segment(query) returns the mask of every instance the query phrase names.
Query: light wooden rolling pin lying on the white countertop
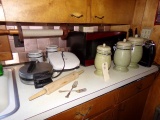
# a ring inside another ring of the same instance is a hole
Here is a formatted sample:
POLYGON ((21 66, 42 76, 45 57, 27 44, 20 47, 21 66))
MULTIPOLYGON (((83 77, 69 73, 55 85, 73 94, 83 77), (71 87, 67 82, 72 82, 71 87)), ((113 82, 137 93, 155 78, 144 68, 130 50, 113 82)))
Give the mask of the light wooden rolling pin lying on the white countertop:
POLYGON ((79 75, 82 74, 83 72, 84 72, 83 70, 78 71, 78 72, 74 71, 74 72, 56 80, 55 82, 52 82, 52 83, 44 86, 43 90, 41 90, 40 92, 31 96, 29 98, 29 100, 31 101, 31 100, 33 100, 37 97, 40 97, 44 94, 47 94, 47 95, 51 94, 52 92, 56 91, 57 89, 61 88, 62 86, 64 86, 64 85, 70 83, 71 81, 77 79, 79 77, 79 75))

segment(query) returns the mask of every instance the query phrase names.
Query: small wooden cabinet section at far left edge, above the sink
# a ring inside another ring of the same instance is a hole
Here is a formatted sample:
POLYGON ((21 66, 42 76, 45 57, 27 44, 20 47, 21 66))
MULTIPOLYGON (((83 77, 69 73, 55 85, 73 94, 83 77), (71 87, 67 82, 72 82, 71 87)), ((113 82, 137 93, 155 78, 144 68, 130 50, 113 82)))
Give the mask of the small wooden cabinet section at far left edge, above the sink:
MULTIPOLYGON (((6 29, 5 25, 0 25, 0 29, 6 29)), ((11 60, 12 52, 7 35, 0 36, 0 61, 11 60)))

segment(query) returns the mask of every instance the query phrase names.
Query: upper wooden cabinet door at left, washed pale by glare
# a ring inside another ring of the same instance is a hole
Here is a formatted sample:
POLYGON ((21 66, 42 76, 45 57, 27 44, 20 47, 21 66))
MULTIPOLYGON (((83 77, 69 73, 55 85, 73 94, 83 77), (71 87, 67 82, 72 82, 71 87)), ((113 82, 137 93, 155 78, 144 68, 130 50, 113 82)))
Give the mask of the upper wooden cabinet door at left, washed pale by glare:
POLYGON ((6 21, 85 23, 87 0, 1 0, 6 21))

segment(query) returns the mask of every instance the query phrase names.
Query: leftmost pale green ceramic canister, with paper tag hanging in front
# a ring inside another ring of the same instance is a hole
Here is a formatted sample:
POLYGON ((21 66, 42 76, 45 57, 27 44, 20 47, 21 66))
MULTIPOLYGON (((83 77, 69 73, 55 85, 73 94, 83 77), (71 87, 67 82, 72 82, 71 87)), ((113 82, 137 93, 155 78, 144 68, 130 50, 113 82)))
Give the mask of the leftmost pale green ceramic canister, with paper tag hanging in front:
POLYGON ((97 53, 94 61, 95 65, 95 74, 99 76, 103 76, 102 72, 102 64, 107 62, 108 69, 111 66, 111 48, 106 44, 97 46, 97 53))

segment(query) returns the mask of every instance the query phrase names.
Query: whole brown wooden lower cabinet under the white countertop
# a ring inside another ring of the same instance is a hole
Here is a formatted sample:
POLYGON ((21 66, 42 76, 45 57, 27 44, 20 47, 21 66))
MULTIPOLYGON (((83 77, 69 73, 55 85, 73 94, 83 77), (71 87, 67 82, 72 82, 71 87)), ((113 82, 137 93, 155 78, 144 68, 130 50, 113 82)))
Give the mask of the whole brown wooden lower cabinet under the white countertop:
POLYGON ((141 120, 154 76, 148 75, 47 120, 141 120))

